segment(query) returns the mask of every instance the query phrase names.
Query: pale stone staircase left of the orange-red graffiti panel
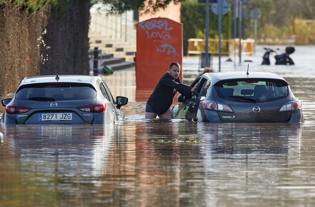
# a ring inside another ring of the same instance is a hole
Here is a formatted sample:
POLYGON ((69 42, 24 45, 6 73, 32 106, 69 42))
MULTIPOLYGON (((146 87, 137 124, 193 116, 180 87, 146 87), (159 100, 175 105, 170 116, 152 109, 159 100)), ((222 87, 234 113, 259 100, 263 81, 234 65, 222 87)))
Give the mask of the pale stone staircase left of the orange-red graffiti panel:
MULTIPOLYGON (((129 42, 122 42, 119 39, 112 39, 110 36, 101 35, 100 32, 89 32, 90 52, 98 47, 101 50, 99 54, 99 67, 107 65, 113 70, 135 67, 134 57, 136 47, 129 42)), ((93 65, 91 66, 93 67, 93 65)))

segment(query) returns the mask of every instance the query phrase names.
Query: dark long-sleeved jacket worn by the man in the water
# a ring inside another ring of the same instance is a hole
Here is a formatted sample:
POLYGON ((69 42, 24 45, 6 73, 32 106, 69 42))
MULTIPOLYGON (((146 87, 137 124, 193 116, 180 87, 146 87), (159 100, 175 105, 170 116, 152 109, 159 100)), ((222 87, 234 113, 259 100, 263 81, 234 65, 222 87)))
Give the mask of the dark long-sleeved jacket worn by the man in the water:
POLYGON ((157 115, 160 116, 172 105, 174 95, 177 91, 184 96, 189 96, 191 95, 191 89, 192 87, 181 84, 179 77, 174 80, 169 73, 166 73, 157 82, 146 103, 155 109, 157 115))

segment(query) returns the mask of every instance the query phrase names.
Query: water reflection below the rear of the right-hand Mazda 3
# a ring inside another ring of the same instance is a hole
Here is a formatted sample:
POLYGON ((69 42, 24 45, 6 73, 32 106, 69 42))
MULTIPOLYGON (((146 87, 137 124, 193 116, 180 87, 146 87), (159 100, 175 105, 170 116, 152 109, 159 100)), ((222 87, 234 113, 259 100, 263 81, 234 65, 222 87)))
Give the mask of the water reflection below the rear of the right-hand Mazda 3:
MULTIPOLYGON (((298 150, 301 123, 261 124, 221 123, 203 125, 204 147, 207 155, 238 154, 239 158, 251 154, 252 158, 283 159, 289 150, 298 150), (244 129, 246 128, 246 129, 244 129), (277 156, 272 156, 273 154, 277 156)), ((292 153, 292 152, 291 152, 292 153)), ((296 152, 295 152, 296 153, 296 152)), ((218 157, 219 158, 219 157, 218 157)))

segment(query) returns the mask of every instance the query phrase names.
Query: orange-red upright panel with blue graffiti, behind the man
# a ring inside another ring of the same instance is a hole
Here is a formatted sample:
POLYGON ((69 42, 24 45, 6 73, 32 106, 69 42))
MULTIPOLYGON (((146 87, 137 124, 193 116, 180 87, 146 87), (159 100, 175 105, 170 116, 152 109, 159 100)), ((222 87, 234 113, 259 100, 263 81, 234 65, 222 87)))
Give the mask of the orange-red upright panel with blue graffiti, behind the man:
POLYGON ((182 65, 182 28, 181 23, 168 18, 152 18, 137 24, 137 88, 154 88, 170 63, 182 65))

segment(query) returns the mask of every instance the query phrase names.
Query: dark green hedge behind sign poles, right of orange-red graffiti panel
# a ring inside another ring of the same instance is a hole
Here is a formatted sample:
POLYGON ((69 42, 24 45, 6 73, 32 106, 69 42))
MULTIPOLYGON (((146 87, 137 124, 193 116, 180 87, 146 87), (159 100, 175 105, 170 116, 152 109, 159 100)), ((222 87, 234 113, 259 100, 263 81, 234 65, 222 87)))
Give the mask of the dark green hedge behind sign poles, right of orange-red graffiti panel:
MULTIPOLYGON (((231 37, 231 5, 227 14, 221 18, 221 38, 231 37)), ((197 0, 186 0, 181 3, 181 23, 183 24, 183 52, 187 54, 188 39, 200 38, 205 40, 206 33, 206 4, 197 0)), ((219 17, 211 11, 209 4, 209 38, 218 39, 219 17)))

